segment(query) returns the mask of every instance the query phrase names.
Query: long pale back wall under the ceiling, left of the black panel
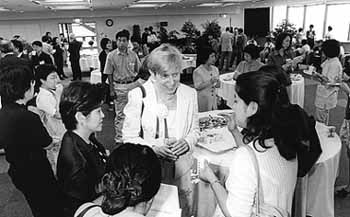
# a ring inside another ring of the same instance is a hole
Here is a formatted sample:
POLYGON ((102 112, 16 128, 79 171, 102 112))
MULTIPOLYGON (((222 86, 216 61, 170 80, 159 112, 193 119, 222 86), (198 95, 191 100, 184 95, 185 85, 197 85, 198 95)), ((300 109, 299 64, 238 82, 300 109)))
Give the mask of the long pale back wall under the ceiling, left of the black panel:
POLYGON ((12 38, 13 35, 23 35, 31 42, 40 40, 45 32, 58 35, 59 23, 71 23, 73 18, 81 18, 84 22, 96 22, 98 37, 107 34, 109 38, 115 37, 115 33, 121 29, 132 29, 132 25, 139 24, 142 31, 146 26, 157 29, 157 23, 167 21, 167 30, 180 31, 183 23, 191 20, 202 31, 201 24, 207 20, 217 19, 224 29, 226 26, 243 27, 243 9, 240 7, 226 8, 186 8, 186 9, 158 9, 158 10, 133 10, 133 11, 68 11, 56 13, 23 13, 4 14, 0 17, 0 36, 12 38), (220 16, 226 14, 226 18, 220 16), (230 19, 231 18, 231 19, 230 19), (106 19, 112 19, 114 25, 108 27, 106 19), (23 31, 21 31, 23 30, 23 31))

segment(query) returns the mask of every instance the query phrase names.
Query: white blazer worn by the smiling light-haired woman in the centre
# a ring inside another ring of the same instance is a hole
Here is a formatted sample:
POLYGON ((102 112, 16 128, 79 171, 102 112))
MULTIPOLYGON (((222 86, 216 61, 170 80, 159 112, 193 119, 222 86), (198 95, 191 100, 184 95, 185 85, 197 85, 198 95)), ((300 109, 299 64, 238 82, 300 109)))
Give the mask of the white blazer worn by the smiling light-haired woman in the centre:
MULTIPOLYGON (((151 80, 143 84, 146 92, 142 98, 140 88, 131 90, 128 94, 128 103, 124 108, 124 124, 122 137, 124 142, 142 144, 147 146, 159 146, 163 144, 163 139, 155 139, 157 126, 157 113, 155 109, 158 105, 156 92, 151 80), (142 100, 144 110, 141 119, 142 100), (139 136, 140 129, 143 129, 143 138, 139 136)), ((175 163, 175 178, 181 176, 192 166, 193 146, 199 138, 198 103, 195 89, 180 84, 176 91, 176 139, 184 138, 190 146, 190 151, 181 156, 175 163)))

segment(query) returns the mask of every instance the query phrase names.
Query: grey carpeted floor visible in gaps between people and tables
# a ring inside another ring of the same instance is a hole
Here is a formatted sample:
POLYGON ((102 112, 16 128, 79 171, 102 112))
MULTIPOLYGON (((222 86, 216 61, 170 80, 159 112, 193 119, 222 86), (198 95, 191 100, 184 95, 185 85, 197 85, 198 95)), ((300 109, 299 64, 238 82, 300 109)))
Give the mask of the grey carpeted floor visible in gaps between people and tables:
MULTIPOLYGON (((316 83, 307 80, 305 81, 305 110, 310 114, 314 113, 314 99, 315 99, 316 83)), ((344 107, 346 99, 343 94, 339 95, 338 106, 331 111, 330 124, 336 126, 337 132, 339 132, 340 125, 344 118, 344 107)), ((102 144, 106 145, 106 148, 114 149, 113 138, 113 112, 107 111, 104 108, 105 120, 101 133, 98 134, 99 140, 102 144)), ((340 159, 339 176, 336 182, 337 186, 347 183, 348 178, 348 160, 345 157, 345 150, 342 149, 342 155, 340 159)), ((22 194, 17 191, 11 183, 10 178, 6 174, 7 163, 5 157, 0 156, 0 217, 31 217, 30 209, 25 202, 22 194)), ((35 168, 33 168, 35 169, 35 168)), ((335 216, 336 217, 348 217, 350 216, 350 195, 345 199, 336 198, 335 200, 335 216)))

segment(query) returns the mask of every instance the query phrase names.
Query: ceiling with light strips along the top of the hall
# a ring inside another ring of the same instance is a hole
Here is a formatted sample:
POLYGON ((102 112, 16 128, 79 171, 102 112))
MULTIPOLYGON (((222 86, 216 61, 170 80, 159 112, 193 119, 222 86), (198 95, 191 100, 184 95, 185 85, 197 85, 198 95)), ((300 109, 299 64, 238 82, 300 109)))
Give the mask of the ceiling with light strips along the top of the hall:
MULTIPOLYGON (((203 4, 205 4, 204 7, 224 7, 230 5, 242 5, 247 2, 251 3, 270 0, 0 0, 0 13, 44 12, 56 10, 133 10, 133 8, 129 8, 129 6, 136 4, 137 1, 160 1, 162 3, 155 7, 162 8, 190 8, 203 4), (54 1, 54 3, 50 3, 50 1, 54 1), (173 3, 166 3, 169 1, 173 1, 173 3), (219 3, 221 5, 206 5, 207 3, 219 3), (79 6, 77 7, 76 4, 79 4, 79 6)), ((139 4, 141 4, 141 2, 139 4)))

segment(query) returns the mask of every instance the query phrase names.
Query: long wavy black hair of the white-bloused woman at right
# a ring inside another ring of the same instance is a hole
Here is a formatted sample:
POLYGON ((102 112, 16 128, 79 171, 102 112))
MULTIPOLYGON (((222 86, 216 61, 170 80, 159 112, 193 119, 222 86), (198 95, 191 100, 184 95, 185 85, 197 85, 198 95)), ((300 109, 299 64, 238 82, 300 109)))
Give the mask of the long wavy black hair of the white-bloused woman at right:
POLYGON ((245 104, 258 104, 257 112, 247 119, 243 142, 252 141, 254 148, 262 151, 257 144, 266 150, 271 147, 265 140, 273 138, 280 155, 286 160, 294 159, 301 141, 291 133, 297 131, 298 124, 290 118, 294 107, 286 98, 286 88, 274 76, 259 70, 239 75, 235 89, 245 104))

